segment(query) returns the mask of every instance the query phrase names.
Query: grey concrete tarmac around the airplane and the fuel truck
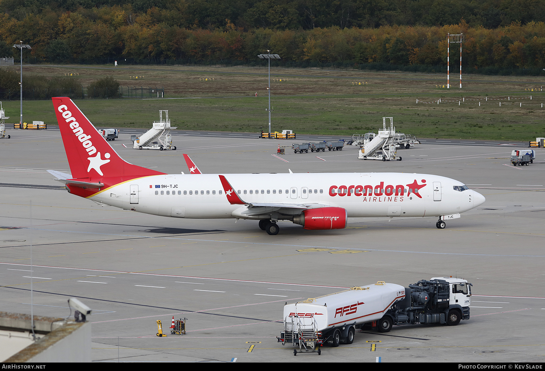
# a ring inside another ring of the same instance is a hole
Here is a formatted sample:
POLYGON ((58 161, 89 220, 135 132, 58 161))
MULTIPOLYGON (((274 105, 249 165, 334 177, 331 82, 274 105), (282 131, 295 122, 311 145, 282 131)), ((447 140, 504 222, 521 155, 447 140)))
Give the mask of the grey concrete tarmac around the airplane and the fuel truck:
POLYGON ((530 166, 512 166, 511 150, 523 143, 422 141, 398 150, 401 162, 379 162, 358 160, 352 146, 294 154, 291 141, 255 134, 177 132, 176 151, 132 149, 129 130, 109 142, 128 162, 172 174, 189 172, 187 153, 208 174, 417 172, 455 178, 487 199, 444 230, 435 218, 354 218, 334 231, 280 221, 269 236, 255 221, 157 217, 70 195, 46 172, 69 171, 60 133, 7 130, 1 310, 30 313, 31 280, 34 314, 69 316, 66 301, 79 298, 93 308, 96 362, 545 360, 543 149, 530 166), (281 159, 272 156, 278 145, 288 145, 281 159), (277 342, 285 302, 436 276, 473 283, 469 320, 358 331, 353 344, 323 347, 320 356, 294 357, 277 342), (186 335, 170 334, 173 316, 187 318, 186 335), (158 319, 167 337, 155 336, 158 319))

